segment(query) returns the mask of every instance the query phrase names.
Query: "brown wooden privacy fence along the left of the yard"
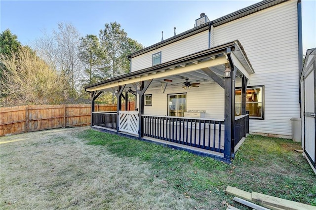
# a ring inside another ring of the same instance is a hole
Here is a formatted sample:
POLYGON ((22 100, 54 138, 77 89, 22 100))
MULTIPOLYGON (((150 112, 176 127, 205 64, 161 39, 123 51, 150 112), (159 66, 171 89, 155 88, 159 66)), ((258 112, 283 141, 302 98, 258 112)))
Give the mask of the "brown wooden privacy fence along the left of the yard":
MULTIPOLYGON (((95 111, 116 111, 117 105, 96 104, 95 111)), ((0 136, 53 128, 88 126, 91 105, 24 105, 0 108, 0 136)))

